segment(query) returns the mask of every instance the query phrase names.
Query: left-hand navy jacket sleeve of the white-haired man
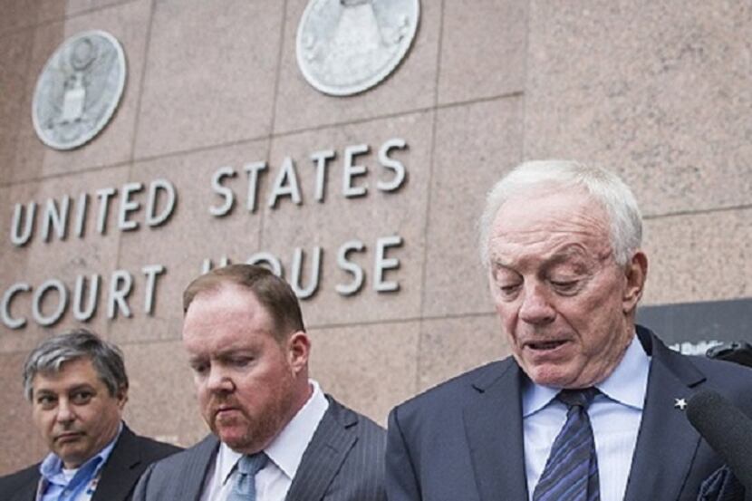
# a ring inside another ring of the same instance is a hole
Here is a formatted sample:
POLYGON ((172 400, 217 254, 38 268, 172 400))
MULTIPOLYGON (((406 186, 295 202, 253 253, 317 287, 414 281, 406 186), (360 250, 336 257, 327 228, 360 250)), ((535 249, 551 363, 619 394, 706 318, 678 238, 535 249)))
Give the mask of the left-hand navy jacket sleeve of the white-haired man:
POLYGON ((396 407, 389 414, 386 451, 386 489, 389 501, 419 501, 418 477, 410 451, 405 442, 400 420, 400 408, 396 407))

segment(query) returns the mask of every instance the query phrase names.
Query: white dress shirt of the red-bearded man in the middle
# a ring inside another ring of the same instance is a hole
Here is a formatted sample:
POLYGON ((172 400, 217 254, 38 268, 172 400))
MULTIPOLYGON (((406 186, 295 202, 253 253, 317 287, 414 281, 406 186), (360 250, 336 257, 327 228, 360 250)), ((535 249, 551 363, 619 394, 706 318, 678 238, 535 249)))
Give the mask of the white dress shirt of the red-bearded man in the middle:
MULTIPOLYGON (((316 381, 310 380, 313 393, 302 409, 264 449, 269 460, 255 475, 256 501, 283 501, 293 483, 305 448, 321 422, 329 400, 316 381)), ((219 445, 217 458, 201 495, 201 501, 225 501, 237 477, 236 464, 243 456, 225 444, 219 445)))

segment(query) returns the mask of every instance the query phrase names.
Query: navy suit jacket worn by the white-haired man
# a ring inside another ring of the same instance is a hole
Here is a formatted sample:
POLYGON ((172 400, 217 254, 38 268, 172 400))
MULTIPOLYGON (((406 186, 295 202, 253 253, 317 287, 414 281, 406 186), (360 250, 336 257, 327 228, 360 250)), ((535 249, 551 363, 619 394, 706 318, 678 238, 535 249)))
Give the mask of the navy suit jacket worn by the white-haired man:
MULTIPOLYGON (((721 459, 675 399, 717 390, 752 416, 752 370, 670 351, 637 327, 651 357, 626 501, 695 501, 721 459)), ((514 359, 490 363, 392 409, 387 438, 390 501, 527 500, 521 382, 514 359)))

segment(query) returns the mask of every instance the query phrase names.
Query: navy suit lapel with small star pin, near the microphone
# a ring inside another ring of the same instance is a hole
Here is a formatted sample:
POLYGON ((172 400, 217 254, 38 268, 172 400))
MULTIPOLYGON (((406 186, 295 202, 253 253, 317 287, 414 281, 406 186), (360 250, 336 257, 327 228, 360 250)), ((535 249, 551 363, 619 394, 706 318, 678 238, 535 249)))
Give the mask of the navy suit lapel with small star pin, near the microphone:
POLYGON ((705 378, 651 332, 638 327, 638 333, 652 361, 624 500, 678 499, 699 446, 699 434, 675 403, 676 399, 689 400, 692 387, 705 378))

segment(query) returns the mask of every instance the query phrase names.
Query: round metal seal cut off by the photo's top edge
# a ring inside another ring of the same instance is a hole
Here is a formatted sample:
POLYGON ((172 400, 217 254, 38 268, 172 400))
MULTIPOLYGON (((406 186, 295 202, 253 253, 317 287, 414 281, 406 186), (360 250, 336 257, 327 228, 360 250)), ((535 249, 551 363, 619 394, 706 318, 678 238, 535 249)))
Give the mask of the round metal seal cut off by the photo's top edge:
POLYGON ((419 0, 309 0, 297 60, 313 87, 345 96, 384 80, 410 49, 419 0))

